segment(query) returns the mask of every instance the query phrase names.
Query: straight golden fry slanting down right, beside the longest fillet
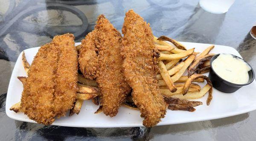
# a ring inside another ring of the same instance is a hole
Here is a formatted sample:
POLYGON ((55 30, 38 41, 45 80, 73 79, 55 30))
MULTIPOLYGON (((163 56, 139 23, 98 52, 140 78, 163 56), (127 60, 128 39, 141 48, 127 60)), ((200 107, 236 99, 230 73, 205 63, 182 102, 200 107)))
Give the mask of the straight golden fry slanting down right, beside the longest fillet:
POLYGON ((160 72, 160 74, 161 74, 163 80, 166 82, 167 87, 169 88, 169 90, 170 90, 172 93, 174 93, 174 92, 177 90, 177 88, 176 88, 175 85, 173 84, 172 79, 171 79, 171 77, 169 76, 169 73, 168 73, 168 71, 166 70, 166 67, 165 67, 163 61, 159 61, 157 65, 158 65, 158 67, 159 67, 159 72, 160 72))

